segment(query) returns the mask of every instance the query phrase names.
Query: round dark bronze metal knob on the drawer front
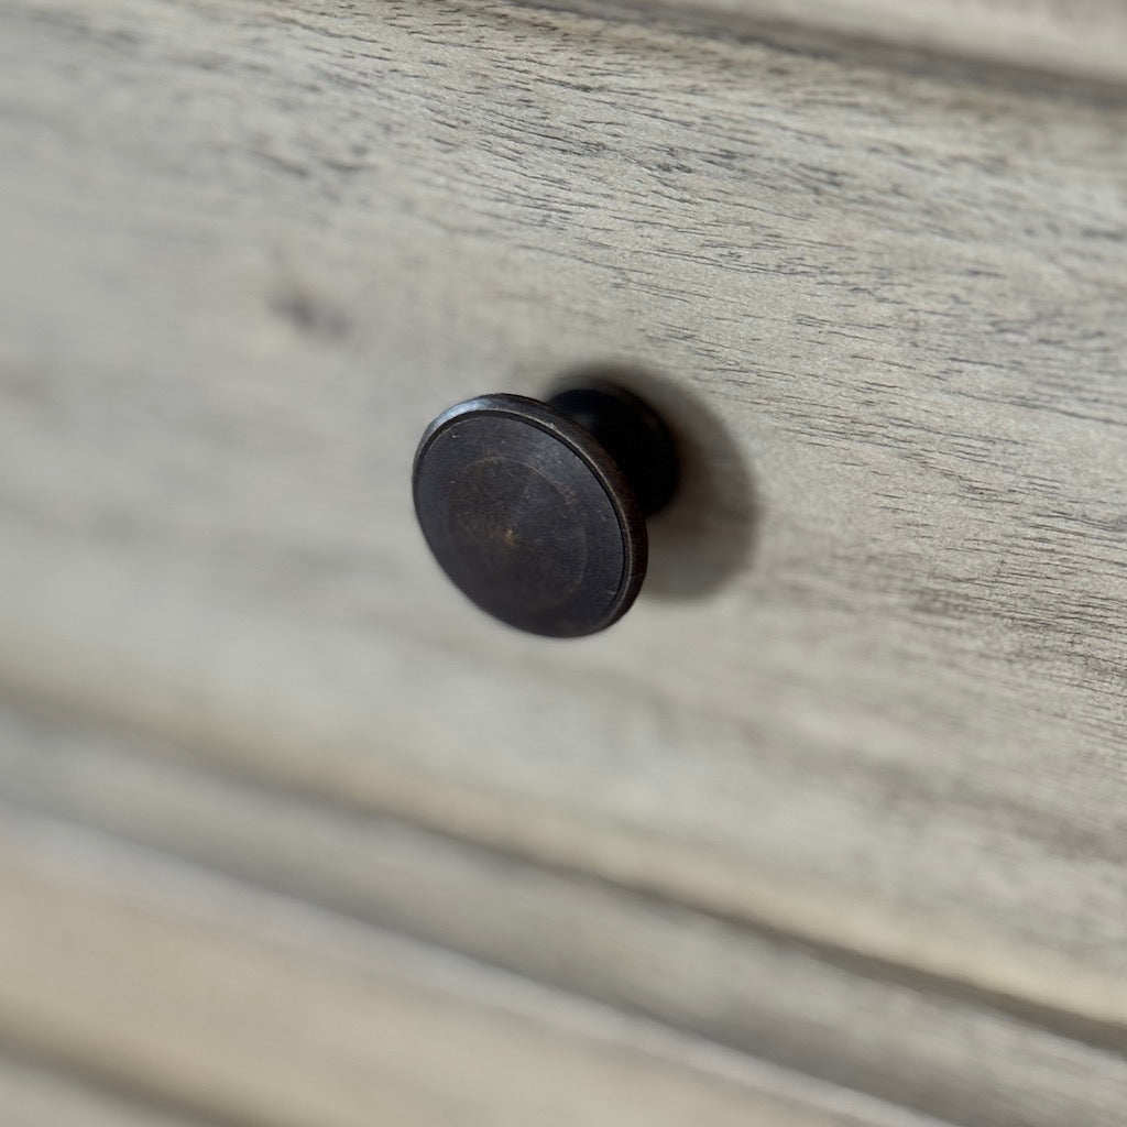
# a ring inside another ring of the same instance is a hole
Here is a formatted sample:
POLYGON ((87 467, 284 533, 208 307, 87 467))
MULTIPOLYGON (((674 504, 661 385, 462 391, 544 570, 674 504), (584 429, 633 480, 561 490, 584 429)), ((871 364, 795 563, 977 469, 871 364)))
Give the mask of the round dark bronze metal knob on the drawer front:
POLYGON ((548 402, 469 399, 415 455, 415 512, 446 575, 494 618, 553 638, 604 630, 630 609, 646 517, 676 483, 665 424, 613 384, 548 402))

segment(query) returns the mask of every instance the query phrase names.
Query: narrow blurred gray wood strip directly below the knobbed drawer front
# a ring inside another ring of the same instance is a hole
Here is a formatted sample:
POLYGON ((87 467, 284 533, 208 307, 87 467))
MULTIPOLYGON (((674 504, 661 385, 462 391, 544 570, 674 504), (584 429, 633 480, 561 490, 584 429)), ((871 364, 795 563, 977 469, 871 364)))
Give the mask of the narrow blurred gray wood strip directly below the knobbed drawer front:
POLYGON ((0 817, 112 832, 955 1122, 1111 1122, 1127 1104, 1121 1039, 147 752, 0 706, 0 817))

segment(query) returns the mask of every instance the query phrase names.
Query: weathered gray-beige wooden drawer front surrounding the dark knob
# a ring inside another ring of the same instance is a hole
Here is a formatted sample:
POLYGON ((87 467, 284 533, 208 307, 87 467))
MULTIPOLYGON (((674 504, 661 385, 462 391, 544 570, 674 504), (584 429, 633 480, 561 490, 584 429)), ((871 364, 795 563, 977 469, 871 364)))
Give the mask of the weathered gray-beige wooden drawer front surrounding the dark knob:
POLYGON ((0 100, 10 690, 1121 1036, 1120 108, 311 0, 15 0, 0 100), (690 481, 544 645, 407 468, 604 358, 690 481))

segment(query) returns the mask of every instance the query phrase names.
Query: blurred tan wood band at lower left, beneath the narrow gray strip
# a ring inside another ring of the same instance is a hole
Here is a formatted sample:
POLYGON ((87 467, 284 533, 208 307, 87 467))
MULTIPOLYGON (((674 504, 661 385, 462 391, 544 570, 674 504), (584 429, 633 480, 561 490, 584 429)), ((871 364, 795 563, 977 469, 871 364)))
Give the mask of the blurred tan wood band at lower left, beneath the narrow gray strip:
POLYGON ((237 1124, 937 1127, 11 811, 0 903, 0 1033, 237 1124))

